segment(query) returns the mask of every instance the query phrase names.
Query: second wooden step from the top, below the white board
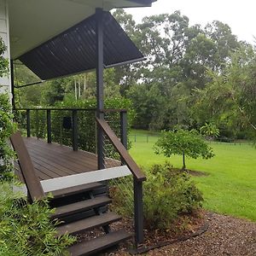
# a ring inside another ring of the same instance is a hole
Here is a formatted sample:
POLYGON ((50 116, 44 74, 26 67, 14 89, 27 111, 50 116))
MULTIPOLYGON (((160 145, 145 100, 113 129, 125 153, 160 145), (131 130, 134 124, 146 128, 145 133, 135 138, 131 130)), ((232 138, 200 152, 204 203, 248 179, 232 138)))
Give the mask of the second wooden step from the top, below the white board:
POLYGON ((67 206, 57 207, 55 214, 53 214, 51 218, 63 218, 68 215, 73 215, 96 207, 105 206, 110 202, 111 199, 108 196, 99 196, 93 199, 79 201, 67 206))

